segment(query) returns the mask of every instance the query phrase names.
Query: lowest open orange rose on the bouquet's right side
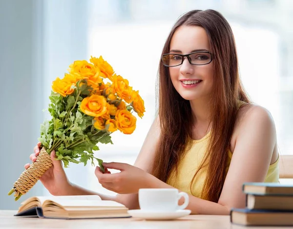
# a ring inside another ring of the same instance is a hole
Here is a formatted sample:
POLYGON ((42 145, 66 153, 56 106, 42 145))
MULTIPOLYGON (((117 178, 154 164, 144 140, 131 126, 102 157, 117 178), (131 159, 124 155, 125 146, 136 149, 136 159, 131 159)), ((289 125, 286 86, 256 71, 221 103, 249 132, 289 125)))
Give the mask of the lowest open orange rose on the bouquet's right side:
POLYGON ((136 127, 136 118, 128 110, 117 110, 115 120, 118 129, 124 134, 132 134, 136 127))

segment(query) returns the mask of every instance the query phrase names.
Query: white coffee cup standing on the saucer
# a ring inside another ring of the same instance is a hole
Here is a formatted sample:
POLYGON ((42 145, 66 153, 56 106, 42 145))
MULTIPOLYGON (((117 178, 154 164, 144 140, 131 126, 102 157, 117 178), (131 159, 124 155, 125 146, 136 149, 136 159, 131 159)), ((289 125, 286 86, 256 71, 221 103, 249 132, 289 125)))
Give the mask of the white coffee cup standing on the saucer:
POLYGON ((176 211, 188 206, 189 197, 176 188, 141 188, 138 191, 139 206, 145 211, 176 211), (178 205, 181 197, 184 203, 178 205))

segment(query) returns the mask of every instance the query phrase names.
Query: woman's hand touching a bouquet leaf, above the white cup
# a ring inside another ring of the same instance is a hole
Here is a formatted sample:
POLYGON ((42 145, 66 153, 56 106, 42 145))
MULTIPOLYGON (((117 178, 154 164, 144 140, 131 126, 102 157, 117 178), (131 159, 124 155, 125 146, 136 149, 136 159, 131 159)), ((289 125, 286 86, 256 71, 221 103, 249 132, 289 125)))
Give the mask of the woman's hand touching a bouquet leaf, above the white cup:
POLYGON ((110 191, 119 194, 138 193, 140 188, 149 188, 154 178, 141 168, 125 163, 103 163, 105 173, 96 167, 95 174, 100 184, 110 191), (117 169, 121 172, 111 174, 108 169, 117 169))

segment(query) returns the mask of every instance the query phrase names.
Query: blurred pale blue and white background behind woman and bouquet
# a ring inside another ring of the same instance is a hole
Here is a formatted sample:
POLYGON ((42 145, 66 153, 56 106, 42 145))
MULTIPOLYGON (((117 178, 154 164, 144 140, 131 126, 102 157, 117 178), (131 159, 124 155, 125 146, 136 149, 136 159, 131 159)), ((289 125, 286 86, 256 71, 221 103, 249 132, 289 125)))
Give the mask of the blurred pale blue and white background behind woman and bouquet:
MULTIPOLYGON (((161 50, 177 18, 215 9, 230 22, 240 74, 251 99, 274 118, 281 154, 293 154, 292 0, 0 0, 0 209, 17 209, 7 196, 50 118, 51 83, 74 60, 102 55, 145 100, 134 134, 113 134, 96 157, 133 164, 155 115, 161 50)), ((101 187, 95 167, 71 165, 73 183, 101 187)), ((38 184, 25 197, 47 195, 38 184)))

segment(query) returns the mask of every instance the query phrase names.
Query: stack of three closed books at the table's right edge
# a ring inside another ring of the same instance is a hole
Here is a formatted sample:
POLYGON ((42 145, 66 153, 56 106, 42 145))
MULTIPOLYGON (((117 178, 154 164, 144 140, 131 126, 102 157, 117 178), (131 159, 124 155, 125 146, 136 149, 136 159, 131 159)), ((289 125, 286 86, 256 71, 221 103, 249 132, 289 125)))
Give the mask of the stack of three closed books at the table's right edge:
POLYGON ((245 183, 246 208, 232 208, 230 222, 247 226, 292 226, 293 184, 245 183))

